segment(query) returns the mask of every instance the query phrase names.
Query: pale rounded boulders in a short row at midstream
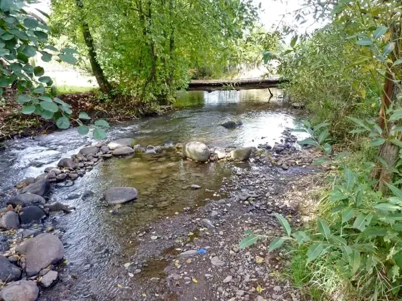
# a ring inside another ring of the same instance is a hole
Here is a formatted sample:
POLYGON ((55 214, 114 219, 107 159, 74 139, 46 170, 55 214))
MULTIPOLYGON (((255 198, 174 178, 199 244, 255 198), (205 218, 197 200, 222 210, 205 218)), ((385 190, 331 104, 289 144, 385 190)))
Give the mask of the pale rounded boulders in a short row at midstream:
POLYGON ((183 157, 198 161, 209 162, 218 160, 227 161, 245 161, 248 160, 255 150, 254 147, 242 148, 209 148, 206 144, 198 141, 190 141, 184 145, 176 144, 176 147, 182 147, 183 157))

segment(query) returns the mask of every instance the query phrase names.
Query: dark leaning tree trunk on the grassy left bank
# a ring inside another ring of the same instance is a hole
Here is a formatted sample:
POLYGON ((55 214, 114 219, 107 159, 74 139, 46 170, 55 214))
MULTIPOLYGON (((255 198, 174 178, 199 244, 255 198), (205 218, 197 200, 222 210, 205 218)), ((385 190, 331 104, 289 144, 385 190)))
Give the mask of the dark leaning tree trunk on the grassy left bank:
MULTIPOLYGON (((82 0, 75 0, 78 10, 83 9, 82 0)), ((93 43, 92 35, 89 31, 88 23, 82 18, 81 20, 81 30, 84 36, 84 41, 88 47, 89 62, 91 63, 92 72, 95 75, 96 81, 99 85, 100 91, 103 93, 109 93, 112 90, 112 85, 109 83, 108 79, 104 75, 102 67, 100 67, 95 51, 95 45, 93 43)))

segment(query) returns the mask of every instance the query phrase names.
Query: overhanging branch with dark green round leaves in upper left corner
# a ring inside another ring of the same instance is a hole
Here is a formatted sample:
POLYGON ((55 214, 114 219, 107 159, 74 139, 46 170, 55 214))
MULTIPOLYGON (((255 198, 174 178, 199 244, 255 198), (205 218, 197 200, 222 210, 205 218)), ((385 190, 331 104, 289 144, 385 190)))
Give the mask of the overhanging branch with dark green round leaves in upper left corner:
MULTIPOLYGON (((40 53, 45 62, 54 56, 75 64, 76 59, 72 56, 75 51, 64 48, 59 52, 49 45, 49 28, 25 11, 25 1, 2 1, 0 12, 3 20, 0 22, 0 58, 3 67, 0 70, 0 95, 4 88, 13 85, 18 89, 17 102, 23 105, 23 114, 53 119, 59 128, 68 128, 71 106, 52 97, 52 79, 44 76, 43 67, 32 66, 29 58, 40 53)), ((39 13, 43 14, 41 11, 39 13)), ((76 122, 82 125, 79 119, 76 122)))

